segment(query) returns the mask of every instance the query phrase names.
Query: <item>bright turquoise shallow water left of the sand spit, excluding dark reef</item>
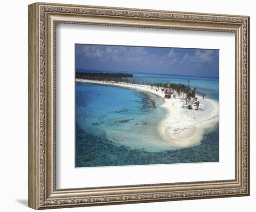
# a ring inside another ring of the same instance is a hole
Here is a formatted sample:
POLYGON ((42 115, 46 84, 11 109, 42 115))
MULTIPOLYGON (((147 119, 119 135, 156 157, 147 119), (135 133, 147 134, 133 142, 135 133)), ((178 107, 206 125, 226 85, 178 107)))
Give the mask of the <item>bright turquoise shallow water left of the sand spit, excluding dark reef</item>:
POLYGON ((76 125, 115 145, 161 151, 155 141, 161 142, 157 125, 166 114, 162 103, 137 90, 76 83, 76 125))

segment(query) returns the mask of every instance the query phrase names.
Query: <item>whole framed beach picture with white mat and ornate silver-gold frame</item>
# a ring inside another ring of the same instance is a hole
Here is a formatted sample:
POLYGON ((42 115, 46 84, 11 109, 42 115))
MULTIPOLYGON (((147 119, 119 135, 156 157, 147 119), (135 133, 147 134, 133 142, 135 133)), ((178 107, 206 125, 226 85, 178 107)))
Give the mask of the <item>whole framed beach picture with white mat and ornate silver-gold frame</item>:
POLYGON ((249 195, 249 17, 29 5, 29 207, 249 195))

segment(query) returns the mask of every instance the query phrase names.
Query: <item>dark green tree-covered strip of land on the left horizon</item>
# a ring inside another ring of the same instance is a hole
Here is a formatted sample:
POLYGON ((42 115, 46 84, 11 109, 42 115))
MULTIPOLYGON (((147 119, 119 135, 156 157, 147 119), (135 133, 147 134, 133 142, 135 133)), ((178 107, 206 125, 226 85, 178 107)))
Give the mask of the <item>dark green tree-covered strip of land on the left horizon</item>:
POLYGON ((104 81, 114 81, 123 82, 126 77, 133 77, 132 74, 122 74, 122 73, 82 73, 76 72, 75 78, 77 79, 89 79, 89 80, 104 80, 104 81))

